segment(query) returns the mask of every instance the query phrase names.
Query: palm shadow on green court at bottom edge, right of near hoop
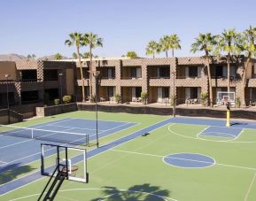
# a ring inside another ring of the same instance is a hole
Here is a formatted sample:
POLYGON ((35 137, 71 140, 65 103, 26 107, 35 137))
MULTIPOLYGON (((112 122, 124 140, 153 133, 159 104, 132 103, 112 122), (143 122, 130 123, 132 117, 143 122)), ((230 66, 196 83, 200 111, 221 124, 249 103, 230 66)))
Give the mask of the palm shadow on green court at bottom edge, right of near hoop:
POLYGON ((105 186, 103 187, 102 193, 102 197, 97 197, 91 201, 160 201, 166 200, 164 197, 170 196, 170 191, 168 189, 160 189, 159 186, 151 186, 149 183, 135 185, 127 190, 105 186))

